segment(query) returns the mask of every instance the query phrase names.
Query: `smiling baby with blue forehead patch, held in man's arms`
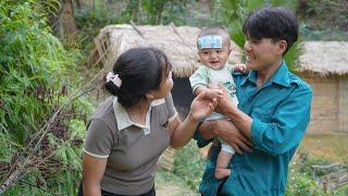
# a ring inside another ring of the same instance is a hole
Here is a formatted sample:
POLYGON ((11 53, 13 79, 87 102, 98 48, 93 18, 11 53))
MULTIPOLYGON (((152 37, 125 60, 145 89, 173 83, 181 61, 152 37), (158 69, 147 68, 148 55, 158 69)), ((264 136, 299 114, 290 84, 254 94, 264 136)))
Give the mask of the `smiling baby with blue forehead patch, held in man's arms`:
MULTIPOLYGON (((201 66, 189 77, 194 94, 197 96, 207 91, 210 98, 219 98, 221 89, 209 88, 222 84, 231 95, 231 101, 238 105, 236 87, 232 73, 234 71, 246 72, 245 64, 232 66, 227 63, 231 54, 231 37, 224 27, 208 27, 200 32, 197 38, 197 48, 201 66)), ((213 112, 207 121, 226 119, 221 113, 213 112)), ((224 140, 219 138, 221 151, 216 160, 215 177, 224 179, 231 174, 227 168, 235 150, 224 140)))

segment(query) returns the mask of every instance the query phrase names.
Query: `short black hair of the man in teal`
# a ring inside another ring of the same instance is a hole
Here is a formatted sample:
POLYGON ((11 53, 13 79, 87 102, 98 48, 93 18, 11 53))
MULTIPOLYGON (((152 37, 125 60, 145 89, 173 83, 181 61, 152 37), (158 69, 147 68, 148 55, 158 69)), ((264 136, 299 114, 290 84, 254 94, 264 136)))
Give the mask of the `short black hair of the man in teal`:
POLYGON ((262 8, 252 11, 243 25, 243 33, 251 39, 271 38, 286 40, 287 49, 298 38, 298 21, 295 14, 284 8, 262 8))

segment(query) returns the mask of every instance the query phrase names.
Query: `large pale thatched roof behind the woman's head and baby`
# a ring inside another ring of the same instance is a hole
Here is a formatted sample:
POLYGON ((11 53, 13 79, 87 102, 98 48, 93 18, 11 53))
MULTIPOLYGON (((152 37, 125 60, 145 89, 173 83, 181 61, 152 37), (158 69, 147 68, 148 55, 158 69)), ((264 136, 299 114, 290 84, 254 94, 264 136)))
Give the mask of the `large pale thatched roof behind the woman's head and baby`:
MULTIPOLYGON (((200 65, 196 38, 200 28, 173 24, 167 26, 110 25, 96 38, 99 58, 107 70, 129 48, 153 46, 162 49, 173 63, 175 76, 188 77, 200 65)), ((241 50, 232 42, 231 63, 240 63, 241 50)))

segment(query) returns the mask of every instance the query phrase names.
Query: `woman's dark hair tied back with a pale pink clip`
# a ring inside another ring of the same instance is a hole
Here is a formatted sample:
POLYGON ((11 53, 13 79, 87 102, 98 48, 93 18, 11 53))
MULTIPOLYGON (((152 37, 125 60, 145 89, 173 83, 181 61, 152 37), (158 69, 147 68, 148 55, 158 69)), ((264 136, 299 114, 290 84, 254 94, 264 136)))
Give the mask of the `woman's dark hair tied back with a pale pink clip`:
POLYGON ((171 70, 172 63, 163 51, 151 47, 133 48, 122 53, 112 69, 122 81, 121 87, 112 82, 107 82, 104 87, 117 96, 124 108, 130 108, 147 93, 158 89, 171 70))

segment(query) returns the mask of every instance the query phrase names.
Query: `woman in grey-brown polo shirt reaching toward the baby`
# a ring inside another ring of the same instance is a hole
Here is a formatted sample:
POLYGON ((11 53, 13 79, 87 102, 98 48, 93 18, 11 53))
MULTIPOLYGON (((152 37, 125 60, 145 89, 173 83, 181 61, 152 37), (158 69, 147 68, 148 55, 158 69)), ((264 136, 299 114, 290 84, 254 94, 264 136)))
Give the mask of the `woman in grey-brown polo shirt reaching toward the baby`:
POLYGON ((94 113, 83 155, 79 195, 156 195, 154 175, 169 145, 184 146, 216 100, 199 95, 184 122, 170 94, 171 63, 154 48, 135 48, 120 56, 105 88, 113 96, 94 113))

